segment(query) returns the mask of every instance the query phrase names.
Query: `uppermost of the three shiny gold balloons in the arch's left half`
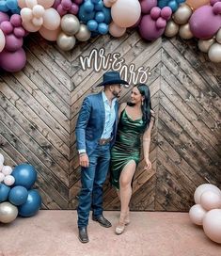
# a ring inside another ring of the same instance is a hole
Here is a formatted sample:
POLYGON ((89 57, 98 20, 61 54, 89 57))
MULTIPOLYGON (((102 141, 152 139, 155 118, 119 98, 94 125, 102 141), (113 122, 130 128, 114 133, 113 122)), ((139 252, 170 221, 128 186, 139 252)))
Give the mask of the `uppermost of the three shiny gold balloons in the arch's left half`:
POLYGON ((80 23, 75 15, 66 14, 61 19, 61 29, 67 35, 74 35, 80 29, 80 23))

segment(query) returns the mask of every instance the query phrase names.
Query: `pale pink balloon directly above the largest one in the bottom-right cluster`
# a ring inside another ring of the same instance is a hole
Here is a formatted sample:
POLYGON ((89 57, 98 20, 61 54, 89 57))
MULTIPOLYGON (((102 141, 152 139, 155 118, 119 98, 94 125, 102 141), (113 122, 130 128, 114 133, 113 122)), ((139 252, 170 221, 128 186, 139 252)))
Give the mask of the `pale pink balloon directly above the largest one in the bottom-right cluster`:
POLYGON ((221 196, 215 194, 213 191, 205 191, 202 193, 201 198, 201 206, 207 210, 213 210, 216 208, 221 208, 221 196))

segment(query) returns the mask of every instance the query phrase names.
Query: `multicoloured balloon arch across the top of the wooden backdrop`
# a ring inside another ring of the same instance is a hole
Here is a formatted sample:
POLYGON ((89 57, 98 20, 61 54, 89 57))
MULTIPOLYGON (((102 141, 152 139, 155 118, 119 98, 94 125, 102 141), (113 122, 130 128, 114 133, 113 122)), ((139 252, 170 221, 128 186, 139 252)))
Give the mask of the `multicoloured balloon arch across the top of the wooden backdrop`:
POLYGON ((132 26, 148 41, 195 37, 211 61, 221 62, 221 0, 2 0, 0 69, 24 68, 24 37, 31 32, 70 51, 77 40, 118 38, 132 26))

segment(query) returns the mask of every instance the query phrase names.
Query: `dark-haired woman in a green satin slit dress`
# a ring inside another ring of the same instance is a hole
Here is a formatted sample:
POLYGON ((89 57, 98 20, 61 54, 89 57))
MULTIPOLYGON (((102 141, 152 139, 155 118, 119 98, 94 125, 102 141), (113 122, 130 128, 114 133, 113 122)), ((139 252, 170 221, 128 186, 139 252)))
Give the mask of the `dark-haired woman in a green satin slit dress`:
POLYGON ((129 203, 135 168, 140 160, 141 136, 143 136, 145 168, 151 168, 150 132, 154 117, 149 87, 145 84, 134 86, 131 102, 120 105, 118 116, 118 134, 111 150, 111 184, 117 188, 120 200, 120 216, 116 228, 116 233, 120 234, 130 222, 129 203))

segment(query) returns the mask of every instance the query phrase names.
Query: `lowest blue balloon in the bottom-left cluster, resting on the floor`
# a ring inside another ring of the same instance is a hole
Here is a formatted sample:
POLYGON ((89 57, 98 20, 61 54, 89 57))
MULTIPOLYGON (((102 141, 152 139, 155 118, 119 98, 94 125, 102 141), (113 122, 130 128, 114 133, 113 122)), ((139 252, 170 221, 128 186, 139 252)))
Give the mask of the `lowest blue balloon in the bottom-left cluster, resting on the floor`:
POLYGON ((18 207, 20 216, 34 216, 41 205, 41 198, 37 190, 31 189, 27 193, 27 200, 18 207))

